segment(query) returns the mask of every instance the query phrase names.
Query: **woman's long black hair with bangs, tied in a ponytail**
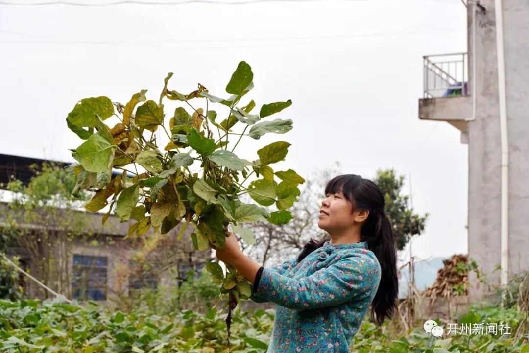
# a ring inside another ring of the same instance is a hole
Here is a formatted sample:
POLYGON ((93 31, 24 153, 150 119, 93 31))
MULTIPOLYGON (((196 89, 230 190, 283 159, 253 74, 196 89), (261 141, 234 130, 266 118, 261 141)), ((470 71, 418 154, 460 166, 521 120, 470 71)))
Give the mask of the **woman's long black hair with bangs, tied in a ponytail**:
MULTIPOLYGON (((369 210, 369 216, 360 230, 360 240, 366 241, 369 250, 375 253, 382 272, 377 294, 371 303, 371 319, 381 325, 385 318, 393 317, 398 295, 397 249, 391 222, 384 213, 384 194, 377 184, 355 174, 338 175, 327 182, 325 195, 340 191, 352 202, 353 209, 369 210)), ((320 241, 309 240, 299 253, 297 262, 328 240, 329 237, 320 241)))

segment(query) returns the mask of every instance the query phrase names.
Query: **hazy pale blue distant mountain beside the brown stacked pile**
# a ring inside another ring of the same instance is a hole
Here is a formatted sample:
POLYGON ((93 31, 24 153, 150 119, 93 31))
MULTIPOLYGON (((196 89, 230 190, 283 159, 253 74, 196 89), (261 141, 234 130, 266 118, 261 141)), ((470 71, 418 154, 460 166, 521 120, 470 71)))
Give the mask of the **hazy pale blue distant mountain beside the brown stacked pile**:
MULTIPOLYGON (((424 291, 427 286, 432 285, 437 277, 437 270, 443 267, 443 260, 448 257, 430 257, 415 262, 415 286, 419 291, 424 291)), ((400 270, 398 279, 398 297, 406 298, 408 293, 409 267, 400 270)))

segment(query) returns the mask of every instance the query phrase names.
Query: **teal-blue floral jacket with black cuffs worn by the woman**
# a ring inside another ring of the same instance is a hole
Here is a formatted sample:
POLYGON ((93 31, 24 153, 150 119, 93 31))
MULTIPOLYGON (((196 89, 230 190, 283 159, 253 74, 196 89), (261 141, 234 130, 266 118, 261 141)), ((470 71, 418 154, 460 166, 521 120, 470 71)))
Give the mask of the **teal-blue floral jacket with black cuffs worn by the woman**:
POLYGON ((278 305, 267 353, 349 352, 380 283, 375 254, 365 241, 326 241, 296 258, 259 268, 252 286, 251 300, 278 305))

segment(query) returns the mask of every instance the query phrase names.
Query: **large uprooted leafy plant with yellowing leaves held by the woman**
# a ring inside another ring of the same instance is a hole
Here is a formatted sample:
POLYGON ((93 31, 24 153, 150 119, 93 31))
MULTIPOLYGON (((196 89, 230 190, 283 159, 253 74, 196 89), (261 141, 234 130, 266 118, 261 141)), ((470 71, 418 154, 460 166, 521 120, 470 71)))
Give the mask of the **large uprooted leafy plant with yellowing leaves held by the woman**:
MULTIPOLYGON (((200 83, 196 90, 182 94, 168 87, 171 77, 169 73, 165 78, 158 101, 147 100, 143 89, 125 105, 104 96, 81 99, 75 105, 66 122, 85 141, 71 150, 79 163, 72 167, 77 175, 74 194, 95 192, 85 205, 90 211, 110 205, 103 223, 112 210, 122 222, 134 220, 128 237, 142 236, 151 227, 165 234, 180 224, 180 239, 191 224, 197 250, 222 248, 229 225, 252 244, 255 236, 244 224, 259 220, 286 224, 292 218, 288 209, 297 201, 298 185, 304 179, 292 169, 272 167, 285 159, 290 144, 277 141, 263 146, 252 161, 240 158, 234 150, 243 136, 258 140, 267 133, 290 131, 291 119, 265 118, 292 102, 264 104, 253 114, 256 103, 242 102, 253 88, 253 73, 244 61, 226 85, 228 98, 210 94, 200 83), (179 105, 174 114, 166 116, 164 99, 179 105), (218 112, 211 108, 213 104, 218 112), (220 119, 221 114, 226 118, 220 119), (107 126, 112 116, 119 122, 107 126), (156 140, 154 133, 159 129, 169 138, 165 146, 156 140), (193 168, 199 171, 191 172, 193 168), (123 173, 112 178, 113 169, 123 173), (253 174, 257 179, 246 183, 253 174), (244 193, 255 203, 242 202, 239 197, 244 193), (262 207, 272 205, 277 210, 262 207)), ((206 266, 227 296, 222 309, 229 305, 229 338, 231 312, 251 295, 250 283, 232 266, 226 266, 226 274, 217 262, 206 266)))

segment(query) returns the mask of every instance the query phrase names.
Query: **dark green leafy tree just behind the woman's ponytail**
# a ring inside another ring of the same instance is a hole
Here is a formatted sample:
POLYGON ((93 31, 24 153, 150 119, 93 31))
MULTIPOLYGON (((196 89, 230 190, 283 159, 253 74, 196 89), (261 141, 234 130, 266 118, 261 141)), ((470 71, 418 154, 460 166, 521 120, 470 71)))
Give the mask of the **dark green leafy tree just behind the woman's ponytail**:
POLYGON ((384 211, 391 220, 397 249, 402 250, 413 236, 421 235, 424 231, 428 213, 419 216, 413 212, 413 207, 408 205, 409 196, 402 192, 404 175, 397 177, 394 169, 377 170, 373 181, 384 193, 384 211))

